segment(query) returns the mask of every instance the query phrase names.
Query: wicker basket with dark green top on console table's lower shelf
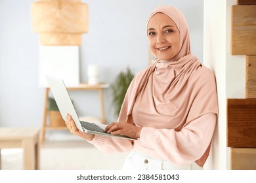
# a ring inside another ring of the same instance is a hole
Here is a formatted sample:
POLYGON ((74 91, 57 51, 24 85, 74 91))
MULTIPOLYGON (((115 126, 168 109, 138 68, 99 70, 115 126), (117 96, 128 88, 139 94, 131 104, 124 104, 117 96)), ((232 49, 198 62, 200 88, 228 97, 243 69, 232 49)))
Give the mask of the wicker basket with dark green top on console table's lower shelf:
POLYGON ((66 124, 62 119, 60 110, 58 110, 56 101, 51 97, 48 98, 47 108, 48 108, 48 114, 49 114, 49 125, 51 127, 65 127, 66 124))

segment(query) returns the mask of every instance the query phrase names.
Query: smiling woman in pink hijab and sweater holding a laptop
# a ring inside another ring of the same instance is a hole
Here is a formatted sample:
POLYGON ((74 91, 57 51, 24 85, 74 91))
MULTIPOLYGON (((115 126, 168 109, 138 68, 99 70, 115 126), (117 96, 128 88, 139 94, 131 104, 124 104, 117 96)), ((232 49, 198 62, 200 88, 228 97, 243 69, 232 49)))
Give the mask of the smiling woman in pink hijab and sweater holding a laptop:
POLYGON ((215 77, 190 53, 186 19, 177 8, 156 8, 147 34, 156 62, 135 75, 118 123, 105 129, 137 140, 82 133, 69 115, 66 125, 104 152, 131 151, 123 169, 191 169, 193 161, 203 167, 218 115, 215 77))

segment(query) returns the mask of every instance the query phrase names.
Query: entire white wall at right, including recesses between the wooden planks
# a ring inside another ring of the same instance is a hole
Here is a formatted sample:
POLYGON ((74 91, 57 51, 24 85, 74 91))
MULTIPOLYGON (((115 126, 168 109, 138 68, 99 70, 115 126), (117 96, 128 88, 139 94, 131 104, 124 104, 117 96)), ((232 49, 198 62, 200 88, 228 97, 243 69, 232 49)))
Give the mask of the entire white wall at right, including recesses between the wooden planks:
POLYGON ((230 54, 231 6, 236 0, 204 1, 204 64, 215 71, 219 120, 213 137, 209 169, 230 169, 226 147, 226 99, 245 97, 245 56, 230 54))

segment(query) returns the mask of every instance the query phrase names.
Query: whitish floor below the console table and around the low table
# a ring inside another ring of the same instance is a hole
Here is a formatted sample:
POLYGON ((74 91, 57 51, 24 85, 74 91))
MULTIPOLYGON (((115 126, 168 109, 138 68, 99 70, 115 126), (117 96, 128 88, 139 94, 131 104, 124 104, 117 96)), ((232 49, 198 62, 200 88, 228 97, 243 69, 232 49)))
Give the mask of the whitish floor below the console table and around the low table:
MULTIPOLYGON (((45 141, 40 153, 42 170, 118 170, 128 154, 106 154, 86 141, 45 141)), ((22 149, 2 149, 1 169, 23 169, 22 149)))

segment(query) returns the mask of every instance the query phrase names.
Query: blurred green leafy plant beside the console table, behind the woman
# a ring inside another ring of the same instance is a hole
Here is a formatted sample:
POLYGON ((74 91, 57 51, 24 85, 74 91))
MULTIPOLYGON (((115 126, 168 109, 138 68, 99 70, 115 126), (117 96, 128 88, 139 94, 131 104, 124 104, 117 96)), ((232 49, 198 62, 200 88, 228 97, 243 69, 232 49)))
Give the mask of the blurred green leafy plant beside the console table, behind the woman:
POLYGON ((121 105, 123 104, 123 99, 131 81, 133 80, 134 74, 131 72, 131 69, 127 67, 125 72, 119 73, 117 75, 116 81, 111 85, 113 90, 113 103, 116 106, 116 115, 119 115, 121 110, 121 105))

